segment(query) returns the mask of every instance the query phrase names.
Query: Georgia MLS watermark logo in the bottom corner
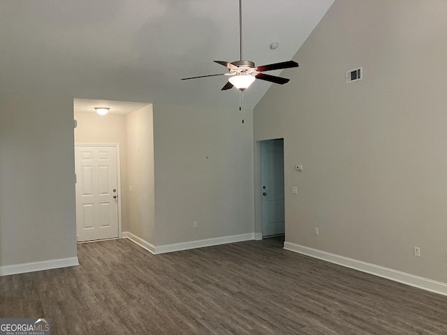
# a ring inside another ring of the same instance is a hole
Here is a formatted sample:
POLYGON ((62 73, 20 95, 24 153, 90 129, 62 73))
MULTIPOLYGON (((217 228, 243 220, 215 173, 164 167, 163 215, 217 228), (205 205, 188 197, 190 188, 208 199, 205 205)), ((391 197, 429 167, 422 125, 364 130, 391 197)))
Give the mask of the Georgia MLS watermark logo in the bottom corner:
POLYGON ((0 335, 50 335, 50 319, 0 319, 0 335))

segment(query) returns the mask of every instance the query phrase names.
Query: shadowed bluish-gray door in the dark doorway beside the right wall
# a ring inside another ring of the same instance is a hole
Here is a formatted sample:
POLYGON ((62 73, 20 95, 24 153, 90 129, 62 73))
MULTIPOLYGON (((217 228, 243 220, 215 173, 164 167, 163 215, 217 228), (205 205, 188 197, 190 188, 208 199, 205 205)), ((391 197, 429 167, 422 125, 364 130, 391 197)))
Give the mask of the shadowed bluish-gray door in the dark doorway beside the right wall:
POLYGON ((263 237, 285 233, 284 142, 261 142, 263 237))

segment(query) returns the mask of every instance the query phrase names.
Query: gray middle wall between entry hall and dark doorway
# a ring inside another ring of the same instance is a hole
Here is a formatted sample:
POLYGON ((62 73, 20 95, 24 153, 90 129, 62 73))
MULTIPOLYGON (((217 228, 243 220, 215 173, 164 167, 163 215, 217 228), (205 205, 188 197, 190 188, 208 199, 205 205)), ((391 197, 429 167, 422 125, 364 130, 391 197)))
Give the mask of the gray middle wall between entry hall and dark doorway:
POLYGON ((254 231, 251 110, 155 104, 154 164, 157 246, 254 231))

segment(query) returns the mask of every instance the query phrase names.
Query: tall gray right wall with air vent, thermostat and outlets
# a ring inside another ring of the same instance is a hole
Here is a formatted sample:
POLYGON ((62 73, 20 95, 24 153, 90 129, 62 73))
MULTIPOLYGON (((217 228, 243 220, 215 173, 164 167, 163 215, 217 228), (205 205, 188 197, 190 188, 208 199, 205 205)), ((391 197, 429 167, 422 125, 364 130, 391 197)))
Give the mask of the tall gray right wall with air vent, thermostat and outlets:
POLYGON ((258 103, 254 139, 284 137, 286 241, 447 282, 445 13, 336 0, 258 103))

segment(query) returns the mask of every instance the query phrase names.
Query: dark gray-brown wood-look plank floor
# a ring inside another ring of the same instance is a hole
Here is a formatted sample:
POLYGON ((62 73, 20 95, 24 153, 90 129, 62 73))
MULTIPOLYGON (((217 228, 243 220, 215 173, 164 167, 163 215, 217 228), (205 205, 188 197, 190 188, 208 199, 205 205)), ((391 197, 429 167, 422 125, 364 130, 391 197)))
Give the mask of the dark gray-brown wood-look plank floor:
POLYGON ((447 334, 447 297, 281 245, 80 244, 78 267, 0 277, 0 317, 51 318, 53 335, 447 334))

